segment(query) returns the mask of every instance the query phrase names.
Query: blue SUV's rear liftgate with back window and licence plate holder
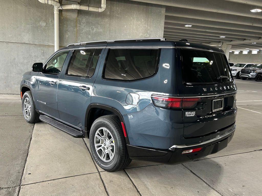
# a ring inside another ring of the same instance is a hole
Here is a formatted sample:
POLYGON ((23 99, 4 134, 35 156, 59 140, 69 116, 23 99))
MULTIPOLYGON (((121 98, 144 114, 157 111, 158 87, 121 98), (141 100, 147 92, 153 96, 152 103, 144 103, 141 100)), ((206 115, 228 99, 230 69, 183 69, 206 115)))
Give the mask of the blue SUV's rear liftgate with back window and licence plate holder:
POLYGON ((236 118, 237 88, 226 56, 190 49, 178 49, 178 54, 178 96, 197 100, 183 108, 184 138, 227 131, 236 118))

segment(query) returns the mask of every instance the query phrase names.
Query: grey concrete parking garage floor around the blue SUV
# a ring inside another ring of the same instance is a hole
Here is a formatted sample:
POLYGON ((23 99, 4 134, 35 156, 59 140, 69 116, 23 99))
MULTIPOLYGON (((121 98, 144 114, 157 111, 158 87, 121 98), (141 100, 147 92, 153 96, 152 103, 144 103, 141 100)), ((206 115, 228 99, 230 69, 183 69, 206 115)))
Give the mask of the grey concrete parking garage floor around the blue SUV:
POLYGON ((237 130, 228 147, 180 165, 132 161, 109 173, 87 139, 28 124, 19 95, 0 95, 0 195, 262 195, 262 83, 236 80, 237 130))

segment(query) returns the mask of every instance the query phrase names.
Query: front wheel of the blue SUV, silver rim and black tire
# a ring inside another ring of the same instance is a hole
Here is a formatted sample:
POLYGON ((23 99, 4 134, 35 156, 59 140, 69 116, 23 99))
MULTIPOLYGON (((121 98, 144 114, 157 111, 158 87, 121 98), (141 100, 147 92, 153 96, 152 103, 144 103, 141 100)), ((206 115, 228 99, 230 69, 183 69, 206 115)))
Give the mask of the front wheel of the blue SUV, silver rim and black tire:
POLYGON ((22 111, 26 122, 39 122, 39 113, 36 112, 35 103, 31 91, 26 91, 22 99, 22 111))

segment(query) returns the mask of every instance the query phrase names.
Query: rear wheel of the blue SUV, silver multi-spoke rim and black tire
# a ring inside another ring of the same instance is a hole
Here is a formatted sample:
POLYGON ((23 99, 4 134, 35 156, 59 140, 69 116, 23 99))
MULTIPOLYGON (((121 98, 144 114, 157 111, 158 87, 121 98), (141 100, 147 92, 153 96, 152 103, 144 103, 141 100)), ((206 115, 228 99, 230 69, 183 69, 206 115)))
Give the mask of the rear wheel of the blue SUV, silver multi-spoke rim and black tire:
POLYGON ((92 157, 102 169, 114 172, 131 163, 121 122, 116 115, 97 118, 91 126, 89 139, 92 157))

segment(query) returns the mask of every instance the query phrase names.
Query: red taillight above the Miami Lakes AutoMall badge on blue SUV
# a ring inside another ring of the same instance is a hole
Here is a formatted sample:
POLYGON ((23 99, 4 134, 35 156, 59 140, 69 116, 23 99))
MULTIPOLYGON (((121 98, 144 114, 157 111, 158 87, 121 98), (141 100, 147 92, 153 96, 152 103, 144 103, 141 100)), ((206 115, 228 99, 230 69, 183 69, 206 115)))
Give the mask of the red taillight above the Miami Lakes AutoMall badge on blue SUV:
POLYGON ((177 98, 162 95, 152 95, 152 101, 155 106, 167 109, 194 108, 201 98, 177 98))

